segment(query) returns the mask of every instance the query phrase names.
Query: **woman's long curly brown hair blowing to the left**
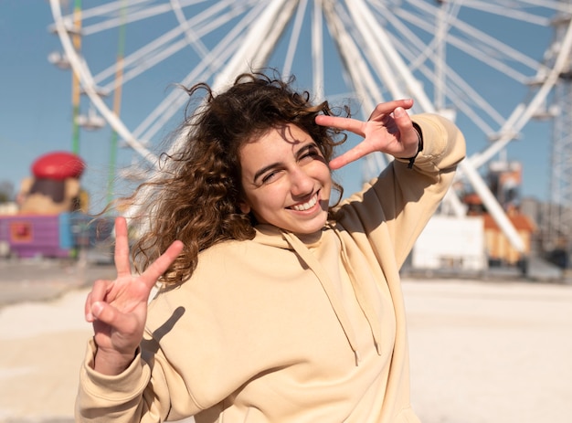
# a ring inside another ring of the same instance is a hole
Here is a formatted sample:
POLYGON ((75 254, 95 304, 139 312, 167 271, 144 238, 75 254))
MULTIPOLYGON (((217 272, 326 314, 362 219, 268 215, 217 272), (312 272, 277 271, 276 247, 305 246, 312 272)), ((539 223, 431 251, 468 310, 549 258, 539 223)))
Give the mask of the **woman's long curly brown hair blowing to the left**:
MULTIPOLYGON (((293 78, 274 72, 238 76, 226 91, 216 94, 206 83, 185 89, 191 100, 204 91, 202 103, 179 128, 183 143, 175 153, 162 154, 161 177, 140 185, 128 200, 145 193, 145 208, 134 221, 146 230, 133 245, 137 270, 146 269, 175 239, 185 243, 182 254, 164 273, 162 281, 175 284, 196 269, 198 253, 228 240, 254 238, 252 216, 238 208, 242 198, 239 149, 271 129, 293 123, 310 134, 329 162, 345 135, 314 122, 319 113, 333 114, 327 101, 313 105, 308 91, 293 90, 293 78), (145 188, 145 189, 143 189, 145 188)), ((345 107, 344 114, 349 116, 345 107)), ((179 135, 180 137, 180 135, 179 135)), ((334 189, 343 193, 341 185, 334 189)), ((339 199, 338 199, 339 202, 339 199)))

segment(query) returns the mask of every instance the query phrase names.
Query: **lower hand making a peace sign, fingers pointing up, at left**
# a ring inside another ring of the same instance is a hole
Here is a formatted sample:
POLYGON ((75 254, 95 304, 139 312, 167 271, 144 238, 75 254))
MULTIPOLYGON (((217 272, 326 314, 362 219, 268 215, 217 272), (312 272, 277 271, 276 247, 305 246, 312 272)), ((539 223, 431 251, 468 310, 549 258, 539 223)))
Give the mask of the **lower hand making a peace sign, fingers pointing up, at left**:
POLYGON ((119 375, 133 360, 143 339, 147 302, 156 281, 183 250, 175 241, 140 276, 132 276, 127 222, 115 220, 115 280, 96 280, 85 304, 85 318, 93 323, 97 344, 94 370, 119 375))

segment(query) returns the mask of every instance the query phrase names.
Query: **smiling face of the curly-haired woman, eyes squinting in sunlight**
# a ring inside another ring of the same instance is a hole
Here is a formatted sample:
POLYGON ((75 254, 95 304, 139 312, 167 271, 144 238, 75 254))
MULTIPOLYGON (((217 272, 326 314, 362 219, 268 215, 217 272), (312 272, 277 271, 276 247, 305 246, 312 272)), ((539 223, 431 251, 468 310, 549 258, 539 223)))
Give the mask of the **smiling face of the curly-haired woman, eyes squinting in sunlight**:
POLYGON ((320 230, 328 217, 332 176, 310 135, 288 124, 240 149, 243 213, 294 233, 320 230))

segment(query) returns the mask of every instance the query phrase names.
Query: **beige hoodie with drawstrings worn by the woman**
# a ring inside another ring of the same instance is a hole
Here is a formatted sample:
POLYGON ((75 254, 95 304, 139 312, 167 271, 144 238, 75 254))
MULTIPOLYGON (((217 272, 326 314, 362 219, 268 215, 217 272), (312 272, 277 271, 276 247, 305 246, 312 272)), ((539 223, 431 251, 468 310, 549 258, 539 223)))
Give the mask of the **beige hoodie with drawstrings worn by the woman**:
POLYGON ((201 252, 190 280, 152 301, 122 374, 80 374, 78 421, 412 423, 398 270, 465 153, 461 132, 417 115, 423 152, 394 161, 298 237, 261 225, 201 252))

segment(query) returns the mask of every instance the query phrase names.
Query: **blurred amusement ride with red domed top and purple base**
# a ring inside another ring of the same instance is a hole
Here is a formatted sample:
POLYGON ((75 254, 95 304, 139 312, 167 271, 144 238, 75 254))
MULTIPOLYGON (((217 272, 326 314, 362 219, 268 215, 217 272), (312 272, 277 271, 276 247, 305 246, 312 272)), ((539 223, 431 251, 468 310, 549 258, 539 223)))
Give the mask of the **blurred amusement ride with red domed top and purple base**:
POLYGON ((84 161, 74 153, 52 152, 32 164, 22 181, 15 214, 0 216, 3 255, 18 258, 73 258, 111 234, 111 221, 84 211, 87 196, 80 178, 84 161), (7 251, 5 251, 7 250, 7 251))

